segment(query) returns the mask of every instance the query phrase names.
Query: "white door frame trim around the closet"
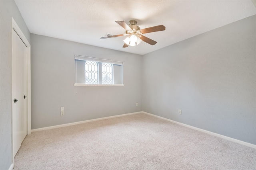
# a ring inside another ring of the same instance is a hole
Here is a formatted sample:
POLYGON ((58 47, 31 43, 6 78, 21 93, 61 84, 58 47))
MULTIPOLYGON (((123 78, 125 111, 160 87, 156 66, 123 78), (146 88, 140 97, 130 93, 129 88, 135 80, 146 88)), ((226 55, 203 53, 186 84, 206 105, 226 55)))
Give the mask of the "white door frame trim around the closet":
MULTIPOLYGON (((25 35, 22 33, 20 27, 18 26, 18 24, 15 22, 13 18, 12 18, 12 29, 14 29, 14 31, 18 34, 18 36, 23 41, 23 43, 27 46, 27 135, 30 135, 31 134, 31 63, 30 63, 31 46, 28 40, 26 39, 25 35)), ((11 33, 12 33, 12 29, 11 29, 11 33)), ((11 107, 12 107, 12 101, 11 101, 11 107)), ((11 128, 12 128, 12 124, 11 124, 11 128)), ((12 162, 13 163, 14 163, 14 156, 15 155, 13 155, 13 128, 12 128, 12 158, 13 158, 12 162)))

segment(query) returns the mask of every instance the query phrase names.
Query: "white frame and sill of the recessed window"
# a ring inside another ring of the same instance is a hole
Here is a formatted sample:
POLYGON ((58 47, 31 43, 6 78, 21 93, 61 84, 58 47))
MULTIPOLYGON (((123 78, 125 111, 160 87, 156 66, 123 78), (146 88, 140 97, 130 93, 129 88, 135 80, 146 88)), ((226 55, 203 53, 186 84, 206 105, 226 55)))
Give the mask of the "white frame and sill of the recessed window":
MULTIPOLYGON (((81 55, 75 55, 75 60, 83 60, 83 61, 95 61, 98 63, 98 79, 102 79, 102 64, 100 63, 110 63, 112 65, 112 74, 113 74, 113 64, 116 65, 123 65, 122 61, 114 61, 114 60, 107 60, 107 59, 100 59, 100 58, 94 58, 94 57, 87 57, 87 56, 81 56, 81 55), (99 70, 100 68, 100 70, 99 70)), ((77 80, 77 76, 76 76, 77 80)), ((77 81, 76 81, 77 82, 77 81)), ((114 82, 114 75, 112 75, 112 83, 114 82)), ((100 81, 98 80, 98 83, 100 81)), ((74 86, 124 86, 124 84, 85 84, 85 83, 75 83, 74 86)))

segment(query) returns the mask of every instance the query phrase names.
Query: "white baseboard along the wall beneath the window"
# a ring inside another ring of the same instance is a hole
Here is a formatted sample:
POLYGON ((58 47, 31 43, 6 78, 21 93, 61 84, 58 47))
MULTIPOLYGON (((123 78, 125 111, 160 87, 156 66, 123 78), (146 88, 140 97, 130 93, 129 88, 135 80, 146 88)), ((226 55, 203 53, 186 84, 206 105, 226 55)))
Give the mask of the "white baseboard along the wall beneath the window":
POLYGON ((87 122, 98 121, 98 120, 103 120, 103 119, 110 119, 110 118, 115 118, 115 117, 122 117, 122 116, 127 116, 127 115, 134 115, 134 114, 138 114, 138 113, 142 113, 142 111, 134 112, 134 113, 126 113, 126 114, 122 114, 122 115, 109 116, 109 117, 102 117, 102 118, 98 118, 98 119, 78 121, 78 122, 74 122, 74 123, 66 123, 66 124, 56 125, 56 126, 42 127, 42 128, 38 128, 38 129, 32 129, 31 132, 44 131, 44 130, 49 130, 49 129, 56 129, 56 128, 59 128, 59 127, 78 125, 78 124, 81 124, 81 123, 87 123, 87 122))

